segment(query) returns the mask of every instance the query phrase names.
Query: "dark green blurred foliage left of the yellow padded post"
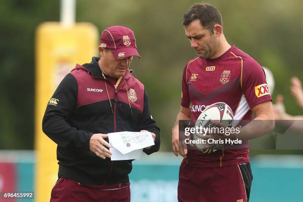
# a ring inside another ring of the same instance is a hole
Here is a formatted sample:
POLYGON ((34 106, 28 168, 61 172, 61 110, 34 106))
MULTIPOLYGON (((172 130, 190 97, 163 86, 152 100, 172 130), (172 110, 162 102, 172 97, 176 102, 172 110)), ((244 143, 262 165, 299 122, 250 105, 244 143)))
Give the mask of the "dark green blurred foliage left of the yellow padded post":
POLYGON ((1 1, 0 149, 33 149, 35 31, 58 13, 59 1, 1 1))

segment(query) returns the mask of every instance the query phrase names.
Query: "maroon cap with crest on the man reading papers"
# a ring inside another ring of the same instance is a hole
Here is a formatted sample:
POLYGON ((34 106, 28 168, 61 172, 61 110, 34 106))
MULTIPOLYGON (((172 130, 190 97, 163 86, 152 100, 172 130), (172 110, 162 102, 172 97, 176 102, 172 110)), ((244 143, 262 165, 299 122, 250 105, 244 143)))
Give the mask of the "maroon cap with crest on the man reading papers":
POLYGON ((140 55, 137 51, 134 32, 122 26, 112 26, 104 29, 101 34, 100 46, 110 49, 117 59, 140 55))

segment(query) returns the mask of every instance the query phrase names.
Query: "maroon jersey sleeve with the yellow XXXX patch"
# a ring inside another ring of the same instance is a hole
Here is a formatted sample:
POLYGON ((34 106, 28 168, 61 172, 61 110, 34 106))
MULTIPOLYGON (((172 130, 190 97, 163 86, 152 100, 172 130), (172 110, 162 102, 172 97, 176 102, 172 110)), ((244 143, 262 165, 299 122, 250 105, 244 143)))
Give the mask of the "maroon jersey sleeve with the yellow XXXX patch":
POLYGON ((242 91, 250 108, 265 101, 272 101, 265 73, 253 59, 243 61, 242 91))

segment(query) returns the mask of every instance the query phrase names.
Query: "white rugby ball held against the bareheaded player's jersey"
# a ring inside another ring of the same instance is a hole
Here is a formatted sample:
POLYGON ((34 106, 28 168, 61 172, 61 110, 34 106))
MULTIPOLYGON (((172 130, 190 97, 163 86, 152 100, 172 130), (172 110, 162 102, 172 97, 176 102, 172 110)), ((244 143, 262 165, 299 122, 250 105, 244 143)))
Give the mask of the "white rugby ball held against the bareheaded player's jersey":
MULTIPOLYGON (((211 120, 216 120, 220 122, 221 125, 225 127, 232 127, 232 123, 234 120, 234 114, 230 106, 224 102, 216 102, 209 106, 207 106, 204 111, 198 117, 195 128, 202 127, 202 128, 214 128, 214 124, 212 124, 211 120)), ((194 140, 199 140, 200 137, 198 135, 202 134, 193 134, 194 140)), ((222 144, 215 144, 212 148, 205 149, 208 147, 208 144, 196 144, 196 147, 200 152, 203 153, 210 153, 215 152, 219 149, 222 149, 222 144)))

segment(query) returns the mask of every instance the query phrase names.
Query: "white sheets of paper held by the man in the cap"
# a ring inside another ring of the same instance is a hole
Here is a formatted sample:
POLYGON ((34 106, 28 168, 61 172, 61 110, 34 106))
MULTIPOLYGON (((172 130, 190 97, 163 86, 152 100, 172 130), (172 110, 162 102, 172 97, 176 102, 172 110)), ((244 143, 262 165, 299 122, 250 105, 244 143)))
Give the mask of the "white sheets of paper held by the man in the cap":
POLYGON ((150 132, 108 133, 111 160, 139 159, 143 148, 154 145, 150 132))

